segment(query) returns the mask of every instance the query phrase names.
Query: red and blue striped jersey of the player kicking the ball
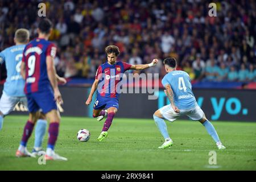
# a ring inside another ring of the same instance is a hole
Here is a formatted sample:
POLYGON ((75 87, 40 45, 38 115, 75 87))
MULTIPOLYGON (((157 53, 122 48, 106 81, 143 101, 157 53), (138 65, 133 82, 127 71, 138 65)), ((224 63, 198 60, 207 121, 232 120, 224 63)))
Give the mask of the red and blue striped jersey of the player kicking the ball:
POLYGON ((118 83, 122 80, 123 73, 131 68, 131 64, 118 61, 110 65, 108 61, 101 64, 96 72, 98 82, 97 94, 102 97, 118 98, 118 83))

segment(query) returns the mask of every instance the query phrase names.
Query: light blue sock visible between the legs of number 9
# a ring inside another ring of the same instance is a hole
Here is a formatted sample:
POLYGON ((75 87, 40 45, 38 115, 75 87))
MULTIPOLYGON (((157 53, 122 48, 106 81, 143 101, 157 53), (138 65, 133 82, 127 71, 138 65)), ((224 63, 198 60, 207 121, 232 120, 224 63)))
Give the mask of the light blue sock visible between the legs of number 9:
POLYGON ((34 148, 42 147, 44 134, 46 134, 47 121, 43 119, 38 119, 35 127, 35 144, 34 148))

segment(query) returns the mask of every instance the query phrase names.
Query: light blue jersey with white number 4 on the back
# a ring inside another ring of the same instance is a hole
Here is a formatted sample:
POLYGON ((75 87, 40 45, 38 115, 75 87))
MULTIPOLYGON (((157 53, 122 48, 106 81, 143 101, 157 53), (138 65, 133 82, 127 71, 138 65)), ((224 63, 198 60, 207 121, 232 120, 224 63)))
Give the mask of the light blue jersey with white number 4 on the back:
POLYGON ((178 109, 191 109, 196 106, 196 98, 192 92, 191 80, 184 71, 172 71, 163 77, 165 87, 171 85, 174 92, 174 104, 178 109))

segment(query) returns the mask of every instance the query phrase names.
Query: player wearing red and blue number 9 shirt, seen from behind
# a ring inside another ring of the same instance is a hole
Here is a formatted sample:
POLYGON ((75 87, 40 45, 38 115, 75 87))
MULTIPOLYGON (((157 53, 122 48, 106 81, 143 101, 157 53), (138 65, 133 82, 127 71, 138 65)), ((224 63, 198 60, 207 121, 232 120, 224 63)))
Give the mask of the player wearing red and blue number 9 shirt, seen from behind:
POLYGON ((56 102, 61 104, 63 100, 57 85, 54 66, 56 46, 48 41, 51 32, 51 21, 47 18, 42 19, 38 26, 38 38, 28 43, 23 51, 20 74, 26 82, 24 92, 27 97, 29 117, 16 151, 18 157, 31 156, 27 152, 26 145, 42 109, 42 113, 49 119, 49 138, 45 158, 46 160, 67 160, 54 151, 60 123, 56 102))

